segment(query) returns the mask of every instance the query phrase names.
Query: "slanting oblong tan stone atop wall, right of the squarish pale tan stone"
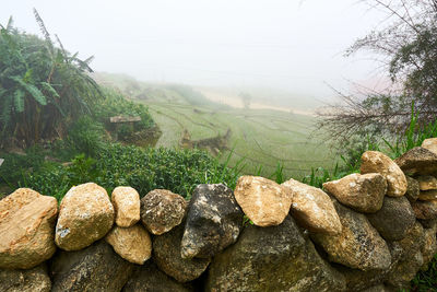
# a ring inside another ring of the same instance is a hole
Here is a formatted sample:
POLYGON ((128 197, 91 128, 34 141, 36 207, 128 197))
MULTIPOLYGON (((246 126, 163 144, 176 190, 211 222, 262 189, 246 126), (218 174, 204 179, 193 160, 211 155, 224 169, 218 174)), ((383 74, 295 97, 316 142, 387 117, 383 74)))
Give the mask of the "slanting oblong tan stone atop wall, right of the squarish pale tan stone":
POLYGON ((340 218, 331 198, 324 191, 295 179, 290 179, 282 186, 292 194, 291 212, 302 226, 327 234, 339 234, 342 231, 340 218))

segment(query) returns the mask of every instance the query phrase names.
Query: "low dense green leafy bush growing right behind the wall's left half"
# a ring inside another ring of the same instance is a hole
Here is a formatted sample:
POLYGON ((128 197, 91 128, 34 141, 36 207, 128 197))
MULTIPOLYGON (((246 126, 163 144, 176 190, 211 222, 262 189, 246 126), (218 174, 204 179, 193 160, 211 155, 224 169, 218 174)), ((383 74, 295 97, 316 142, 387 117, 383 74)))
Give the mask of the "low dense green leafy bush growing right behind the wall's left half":
POLYGON ((78 184, 94 182, 110 194, 117 186, 131 186, 141 197, 152 189, 165 188, 190 198, 199 184, 224 183, 235 188, 237 168, 228 168, 206 152, 194 150, 141 149, 108 144, 95 159, 76 156, 72 165, 48 165, 27 174, 22 187, 62 198, 78 184))

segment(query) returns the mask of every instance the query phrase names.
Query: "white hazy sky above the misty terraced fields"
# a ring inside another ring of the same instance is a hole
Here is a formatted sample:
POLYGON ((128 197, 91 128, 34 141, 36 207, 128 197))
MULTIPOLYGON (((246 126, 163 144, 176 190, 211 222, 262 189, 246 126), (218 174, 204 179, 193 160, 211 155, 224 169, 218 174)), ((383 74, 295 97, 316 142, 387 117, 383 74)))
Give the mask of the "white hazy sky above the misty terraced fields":
POLYGON ((344 50, 381 21, 355 0, 2 0, 0 23, 39 34, 32 8, 96 71, 144 81, 265 86, 311 96, 369 83, 344 50))

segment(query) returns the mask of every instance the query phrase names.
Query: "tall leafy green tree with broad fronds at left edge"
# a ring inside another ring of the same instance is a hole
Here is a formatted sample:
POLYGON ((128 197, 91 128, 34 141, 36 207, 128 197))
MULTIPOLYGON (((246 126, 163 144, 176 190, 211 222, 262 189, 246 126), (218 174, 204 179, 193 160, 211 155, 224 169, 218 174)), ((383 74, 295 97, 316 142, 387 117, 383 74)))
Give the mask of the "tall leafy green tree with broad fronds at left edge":
POLYGON ((28 147, 63 137, 69 122, 88 113, 101 90, 87 74, 90 62, 52 42, 34 10, 44 39, 0 25, 0 148, 28 147))

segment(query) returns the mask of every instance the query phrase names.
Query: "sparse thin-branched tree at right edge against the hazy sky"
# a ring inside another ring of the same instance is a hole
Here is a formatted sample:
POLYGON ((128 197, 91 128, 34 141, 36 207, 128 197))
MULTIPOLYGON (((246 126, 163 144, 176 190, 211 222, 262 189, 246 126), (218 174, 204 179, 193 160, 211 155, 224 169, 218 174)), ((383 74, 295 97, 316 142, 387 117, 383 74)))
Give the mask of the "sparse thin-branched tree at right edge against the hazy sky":
POLYGON ((320 126, 343 141, 354 135, 403 135, 413 112, 418 128, 437 114, 437 0, 366 2, 386 12, 387 19, 379 30, 356 40, 346 56, 376 54, 392 83, 383 92, 339 92, 342 104, 320 114, 320 126))

